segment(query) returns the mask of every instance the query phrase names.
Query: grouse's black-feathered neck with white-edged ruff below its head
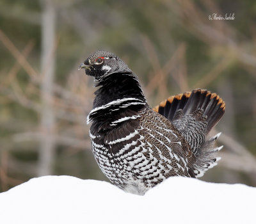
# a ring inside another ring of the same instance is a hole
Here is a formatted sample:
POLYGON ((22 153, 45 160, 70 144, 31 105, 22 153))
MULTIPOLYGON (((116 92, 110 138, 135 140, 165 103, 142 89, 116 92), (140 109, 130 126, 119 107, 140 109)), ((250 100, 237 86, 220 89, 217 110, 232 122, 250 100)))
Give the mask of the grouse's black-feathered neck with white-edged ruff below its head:
POLYGON ((87 122, 111 122, 118 114, 138 111, 147 105, 138 78, 134 74, 111 74, 97 84, 93 109, 87 122))

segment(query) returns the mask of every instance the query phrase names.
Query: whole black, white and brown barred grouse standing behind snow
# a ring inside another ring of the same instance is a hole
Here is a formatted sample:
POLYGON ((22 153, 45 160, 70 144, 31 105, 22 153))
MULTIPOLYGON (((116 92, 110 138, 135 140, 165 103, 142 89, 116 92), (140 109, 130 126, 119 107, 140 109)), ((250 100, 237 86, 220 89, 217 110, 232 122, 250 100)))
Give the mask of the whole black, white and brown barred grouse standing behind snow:
POLYGON ((220 160, 221 133, 210 131, 225 102, 216 93, 196 89, 150 108, 138 76, 115 54, 92 52, 81 68, 98 87, 87 116, 92 152, 118 188, 144 195, 169 177, 202 177, 220 160))

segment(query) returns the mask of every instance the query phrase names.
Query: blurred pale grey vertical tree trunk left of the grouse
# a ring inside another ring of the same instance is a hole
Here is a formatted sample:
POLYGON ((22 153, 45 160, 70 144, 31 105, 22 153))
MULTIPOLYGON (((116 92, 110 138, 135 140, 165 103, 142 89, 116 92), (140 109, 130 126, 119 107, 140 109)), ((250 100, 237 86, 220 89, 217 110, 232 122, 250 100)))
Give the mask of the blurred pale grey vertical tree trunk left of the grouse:
POLYGON ((56 12, 51 0, 42 1, 42 61, 41 61, 41 100, 42 113, 40 130, 42 140, 40 141, 38 176, 52 174, 54 162, 55 143, 52 138, 54 134, 54 111, 52 108, 52 84, 54 81, 54 42, 55 42, 55 18, 56 12))

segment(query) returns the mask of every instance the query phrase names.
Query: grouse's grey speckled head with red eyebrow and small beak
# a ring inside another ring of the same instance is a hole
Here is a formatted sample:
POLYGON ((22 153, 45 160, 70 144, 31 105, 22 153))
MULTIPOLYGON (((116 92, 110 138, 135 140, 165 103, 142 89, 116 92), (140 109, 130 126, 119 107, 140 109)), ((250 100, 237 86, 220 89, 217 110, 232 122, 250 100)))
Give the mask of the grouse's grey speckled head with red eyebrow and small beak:
POLYGON ((115 54, 108 51, 96 51, 81 63, 79 69, 84 68, 85 74, 93 76, 95 81, 102 81, 111 74, 131 74, 128 66, 115 54))

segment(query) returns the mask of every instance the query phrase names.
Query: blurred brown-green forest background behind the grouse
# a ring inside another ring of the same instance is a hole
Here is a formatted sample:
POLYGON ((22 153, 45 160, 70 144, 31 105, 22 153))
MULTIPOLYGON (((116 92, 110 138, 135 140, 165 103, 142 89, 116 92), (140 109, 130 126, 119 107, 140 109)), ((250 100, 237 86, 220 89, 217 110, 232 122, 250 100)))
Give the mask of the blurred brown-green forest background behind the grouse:
POLYGON ((1 0, 0 192, 41 175, 106 180, 86 125, 93 80, 77 70, 99 49, 138 74, 150 106, 218 92, 225 147, 202 179, 256 186, 256 1, 1 0))

